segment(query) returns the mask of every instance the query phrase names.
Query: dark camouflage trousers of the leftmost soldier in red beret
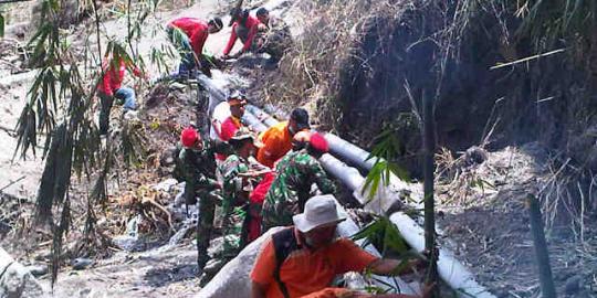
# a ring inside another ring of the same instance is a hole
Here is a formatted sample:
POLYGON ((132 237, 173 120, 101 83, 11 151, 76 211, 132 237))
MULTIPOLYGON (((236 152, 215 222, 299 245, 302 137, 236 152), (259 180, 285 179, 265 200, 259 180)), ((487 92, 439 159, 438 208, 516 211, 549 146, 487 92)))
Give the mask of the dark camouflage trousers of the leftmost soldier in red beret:
POLYGON ((203 269, 209 260, 209 242, 213 231, 213 217, 216 204, 220 200, 219 191, 200 191, 199 196, 199 219, 197 220, 197 265, 203 269))

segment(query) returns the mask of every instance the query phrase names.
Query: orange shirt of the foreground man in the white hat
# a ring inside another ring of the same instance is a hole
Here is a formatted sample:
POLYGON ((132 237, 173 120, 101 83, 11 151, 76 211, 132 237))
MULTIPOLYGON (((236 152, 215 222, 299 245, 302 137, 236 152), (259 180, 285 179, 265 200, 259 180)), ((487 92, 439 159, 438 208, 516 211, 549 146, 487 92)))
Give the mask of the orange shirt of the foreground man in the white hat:
MULTIPOLYGON (((296 230, 295 230, 296 232, 296 230)), ((295 233, 295 236, 298 236, 295 233)), ((354 242, 339 238, 326 247, 312 251, 300 241, 303 248, 292 252, 280 268, 280 278, 286 285, 290 297, 302 297, 329 286, 334 277, 348 272, 363 272, 378 258, 354 242)), ((273 242, 270 238, 263 246, 251 272, 251 280, 266 285, 268 298, 283 298, 273 274, 276 259, 273 242)))

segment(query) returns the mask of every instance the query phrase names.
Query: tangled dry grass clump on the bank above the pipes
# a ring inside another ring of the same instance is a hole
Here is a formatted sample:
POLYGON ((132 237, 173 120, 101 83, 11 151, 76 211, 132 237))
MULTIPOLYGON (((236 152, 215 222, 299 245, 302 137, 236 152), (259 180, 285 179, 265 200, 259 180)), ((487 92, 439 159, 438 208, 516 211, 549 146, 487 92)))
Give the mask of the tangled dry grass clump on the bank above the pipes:
MULTIPOLYGON (((338 124, 341 73, 348 58, 367 58, 356 53, 367 25, 375 18, 391 20, 410 1, 333 0, 301 1, 296 18, 304 20, 295 46, 280 62, 280 73, 264 84, 263 100, 274 105, 315 103, 318 121, 327 127, 338 124)), ((379 36, 383 39, 383 34, 379 36)))

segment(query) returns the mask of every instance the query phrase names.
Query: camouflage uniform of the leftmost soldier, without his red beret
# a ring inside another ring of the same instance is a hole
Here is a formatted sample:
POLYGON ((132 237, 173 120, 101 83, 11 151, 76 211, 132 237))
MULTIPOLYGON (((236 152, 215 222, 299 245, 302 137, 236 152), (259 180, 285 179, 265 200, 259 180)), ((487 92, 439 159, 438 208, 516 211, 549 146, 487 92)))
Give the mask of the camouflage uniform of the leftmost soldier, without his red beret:
POLYGON ((203 268, 209 260, 208 247, 213 230, 216 202, 221 199, 216 179, 216 152, 227 152, 227 143, 203 141, 203 149, 184 148, 180 150, 180 166, 185 172, 185 200, 187 204, 199 202, 197 221, 197 264, 203 268))

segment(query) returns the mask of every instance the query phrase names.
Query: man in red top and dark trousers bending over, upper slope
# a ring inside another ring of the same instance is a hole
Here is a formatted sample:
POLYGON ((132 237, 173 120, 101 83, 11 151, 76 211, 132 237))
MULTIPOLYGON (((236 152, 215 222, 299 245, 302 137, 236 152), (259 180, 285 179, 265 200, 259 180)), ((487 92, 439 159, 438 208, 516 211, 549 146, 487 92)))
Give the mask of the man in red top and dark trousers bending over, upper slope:
POLYGON ((217 33, 222 28, 220 18, 213 18, 207 23, 195 18, 179 18, 168 23, 168 39, 180 53, 179 76, 189 78, 196 70, 210 75, 211 58, 203 55, 203 45, 209 34, 217 33))

